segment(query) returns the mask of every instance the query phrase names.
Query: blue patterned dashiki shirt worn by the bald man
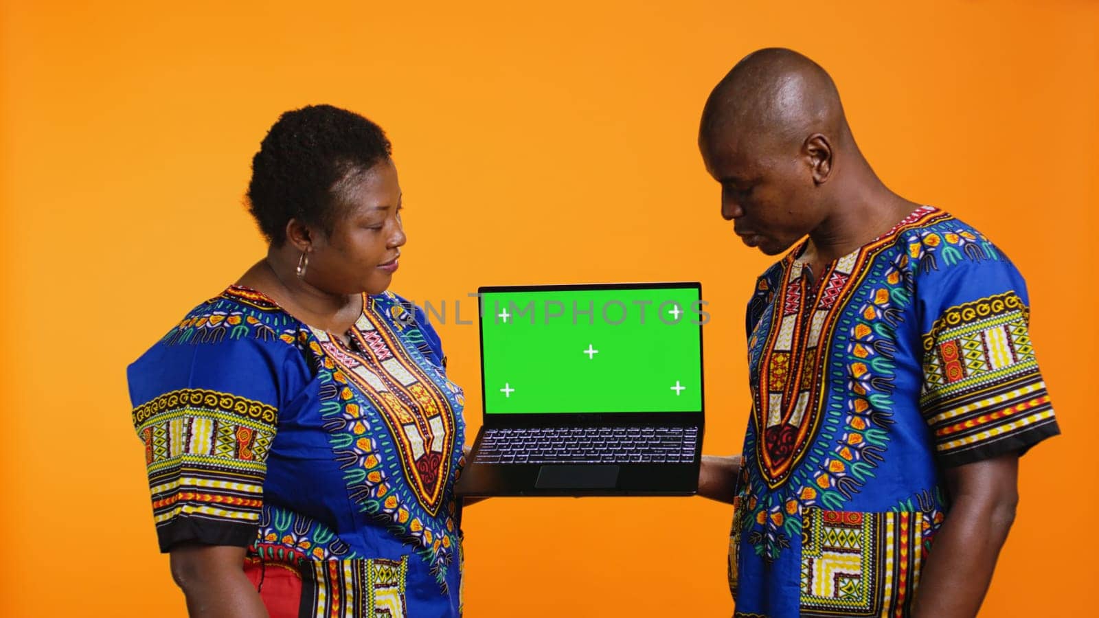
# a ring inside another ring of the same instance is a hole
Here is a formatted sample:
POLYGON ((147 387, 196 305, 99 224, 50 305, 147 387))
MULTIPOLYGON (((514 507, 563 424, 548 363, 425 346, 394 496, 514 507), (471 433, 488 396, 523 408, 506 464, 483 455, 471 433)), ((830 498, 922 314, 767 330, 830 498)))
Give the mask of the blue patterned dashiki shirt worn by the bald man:
POLYGON ((1022 277, 931 207, 748 305, 752 415, 730 539, 736 616, 908 616, 943 468, 1058 433, 1022 277))

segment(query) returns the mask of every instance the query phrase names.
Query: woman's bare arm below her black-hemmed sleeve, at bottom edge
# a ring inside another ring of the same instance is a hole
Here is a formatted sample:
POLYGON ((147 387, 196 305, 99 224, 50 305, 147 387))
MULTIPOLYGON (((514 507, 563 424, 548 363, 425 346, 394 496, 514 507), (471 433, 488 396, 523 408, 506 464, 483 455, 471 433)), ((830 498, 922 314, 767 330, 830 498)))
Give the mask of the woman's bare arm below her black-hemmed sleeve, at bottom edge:
POLYGON ((245 551, 197 544, 171 550, 171 578, 184 591, 191 618, 267 618, 259 593, 244 574, 245 551))

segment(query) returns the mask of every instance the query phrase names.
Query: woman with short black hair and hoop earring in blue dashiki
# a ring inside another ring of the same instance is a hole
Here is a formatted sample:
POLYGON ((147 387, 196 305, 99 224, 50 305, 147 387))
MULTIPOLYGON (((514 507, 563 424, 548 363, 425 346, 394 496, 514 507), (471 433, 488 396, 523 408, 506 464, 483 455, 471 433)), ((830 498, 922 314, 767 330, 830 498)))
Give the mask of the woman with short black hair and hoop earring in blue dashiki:
POLYGON ((282 114, 253 159, 267 256, 129 369, 160 551, 191 616, 459 616, 462 389, 387 291, 385 133, 282 114))

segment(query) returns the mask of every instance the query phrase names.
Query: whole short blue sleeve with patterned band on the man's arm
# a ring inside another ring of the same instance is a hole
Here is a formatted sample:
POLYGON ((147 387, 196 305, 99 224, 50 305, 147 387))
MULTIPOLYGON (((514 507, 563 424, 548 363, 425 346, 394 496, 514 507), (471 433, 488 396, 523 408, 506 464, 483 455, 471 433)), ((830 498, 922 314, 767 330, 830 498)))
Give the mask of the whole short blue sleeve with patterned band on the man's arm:
POLYGON ((940 463, 1023 453, 1059 433, 1030 338, 1022 276, 988 245, 918 279, 920 408, 940 463))

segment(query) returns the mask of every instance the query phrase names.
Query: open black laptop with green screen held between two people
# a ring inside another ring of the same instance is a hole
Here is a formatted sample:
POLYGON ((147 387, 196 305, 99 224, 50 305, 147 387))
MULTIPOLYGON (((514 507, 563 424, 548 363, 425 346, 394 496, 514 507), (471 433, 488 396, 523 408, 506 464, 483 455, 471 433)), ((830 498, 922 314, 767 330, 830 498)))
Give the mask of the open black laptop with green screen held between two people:
POLYGON ((478 293, 485 415, 458 496, 697 493, 701 284, 478 293))

